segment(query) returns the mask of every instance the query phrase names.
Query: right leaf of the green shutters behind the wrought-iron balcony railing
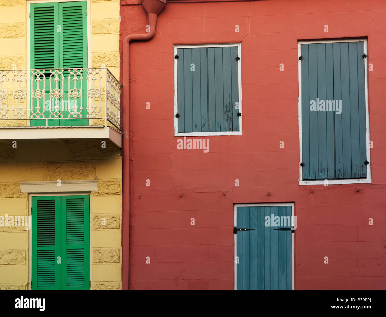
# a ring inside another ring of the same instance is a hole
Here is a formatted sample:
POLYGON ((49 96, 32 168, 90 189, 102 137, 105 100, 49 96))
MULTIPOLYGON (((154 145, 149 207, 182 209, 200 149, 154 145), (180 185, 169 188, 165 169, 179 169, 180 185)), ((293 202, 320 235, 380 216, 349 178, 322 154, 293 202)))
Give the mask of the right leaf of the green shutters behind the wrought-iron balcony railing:
MULTIPOLYGON (((64 2, 59 4, 59 23, 62 26, 62 32, 59 34, 59 52, 60 68, 77 69, 87 67, 87 20, 86 20, 86 2, 64 2)), ((86 71, 76 75, 77 81, 74 81, 74 76, 70 76, 68 81, 68 71, 64 71, 64 99, 70 100, 70 111, 73 112, 73 104, 71 101, 74 98, 68 98, 68 93, 71 89, 81 89, 83 91, 82 98, 76 98, 78 111, 82 108, 81 114, 83 118, 87 116, 86 101, 87 101, 87 84, 86 71), (81 83, 81 76, 83 77, 81 83), (75 86, 76 85, 76 86, 75 86)), ((64 117, 69 117, 69 110, 66 110, 64 117)), ((70 116, 71 117, 71 116, 70 116)), ((88 119, 67 119, 61 120, 60 125, 88 125, 88 119)))

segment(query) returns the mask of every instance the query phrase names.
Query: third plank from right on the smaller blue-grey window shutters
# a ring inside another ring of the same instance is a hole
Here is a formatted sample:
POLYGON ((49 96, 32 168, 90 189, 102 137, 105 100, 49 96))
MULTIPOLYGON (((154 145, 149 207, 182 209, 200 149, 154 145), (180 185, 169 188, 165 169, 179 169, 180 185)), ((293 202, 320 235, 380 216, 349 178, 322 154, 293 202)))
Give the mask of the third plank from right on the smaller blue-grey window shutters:
POLYGON ((216 132, 224 130, 223 48, 215 47, 216 132))

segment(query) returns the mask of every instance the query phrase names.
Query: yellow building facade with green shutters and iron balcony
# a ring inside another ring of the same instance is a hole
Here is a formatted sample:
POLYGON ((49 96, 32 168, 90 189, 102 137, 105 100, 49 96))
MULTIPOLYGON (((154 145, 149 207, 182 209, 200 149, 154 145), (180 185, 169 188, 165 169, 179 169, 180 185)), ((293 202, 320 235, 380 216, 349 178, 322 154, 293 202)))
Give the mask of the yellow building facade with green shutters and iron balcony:
POLYGON ((119 0, 0 21, 0 290, 120 290, 119 0))

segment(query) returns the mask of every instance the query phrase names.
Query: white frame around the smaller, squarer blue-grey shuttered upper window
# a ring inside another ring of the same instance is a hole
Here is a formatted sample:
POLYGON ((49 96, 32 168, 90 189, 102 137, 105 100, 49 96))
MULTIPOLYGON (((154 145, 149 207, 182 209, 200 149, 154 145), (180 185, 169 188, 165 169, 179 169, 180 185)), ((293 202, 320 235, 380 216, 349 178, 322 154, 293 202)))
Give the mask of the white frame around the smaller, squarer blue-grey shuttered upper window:
MULTIPOLYGON (((174 46, 174 56, 177 55, 177 49, 188 48, 202 48, 202 47, 237 47, 237 56, 240 57, 238 61, 238 82, 239 82, 239 112, 241 111, 241 44, 205 44, 205 45, 176 45, 174 46)), ((178 132, 178 113, 177 105, 177 59, 174 58, 174 136, 175 137, 188 137, 188 136, 209 136, 209 135, 242 135, 242 115, 239 116, 239 131, 222 131, 222 132, 178 132)))

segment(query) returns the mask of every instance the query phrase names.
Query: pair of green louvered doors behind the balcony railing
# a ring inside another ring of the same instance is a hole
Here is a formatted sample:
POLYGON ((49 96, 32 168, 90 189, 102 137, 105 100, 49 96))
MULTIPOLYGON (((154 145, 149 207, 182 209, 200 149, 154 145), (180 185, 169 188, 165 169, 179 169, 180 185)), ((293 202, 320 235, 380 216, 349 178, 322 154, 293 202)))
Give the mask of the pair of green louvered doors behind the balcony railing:
POLYGON ((30 67, 44 70, 30 74, 33 112, 44 114, 32 114, 30 125, 88 125, 86 1, 31 3, 30 25, 30 67))

